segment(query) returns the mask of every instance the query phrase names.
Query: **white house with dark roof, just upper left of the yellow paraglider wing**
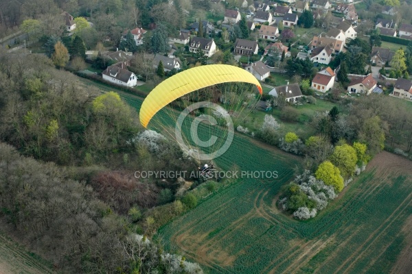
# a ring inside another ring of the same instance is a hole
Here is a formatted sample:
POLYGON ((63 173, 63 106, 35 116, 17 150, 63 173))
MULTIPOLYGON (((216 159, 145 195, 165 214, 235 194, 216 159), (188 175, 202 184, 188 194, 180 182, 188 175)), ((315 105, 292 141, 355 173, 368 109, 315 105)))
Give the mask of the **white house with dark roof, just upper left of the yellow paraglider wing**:
POLYGON ((137 85, 137 77, 135 73, 125 69, 122 62, 108 66, 102 72, 103 79, 113 84, 121 86, 133 87, 137 85))

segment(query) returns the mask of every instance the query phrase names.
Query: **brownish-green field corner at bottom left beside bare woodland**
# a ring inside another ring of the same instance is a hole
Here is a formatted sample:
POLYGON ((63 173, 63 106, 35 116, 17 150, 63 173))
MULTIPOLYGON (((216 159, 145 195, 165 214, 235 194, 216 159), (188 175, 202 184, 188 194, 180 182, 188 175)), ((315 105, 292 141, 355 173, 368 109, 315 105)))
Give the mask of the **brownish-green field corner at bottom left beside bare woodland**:
POLYGON ((23 247, 0 232, 0 274, 54 273, 23 247))

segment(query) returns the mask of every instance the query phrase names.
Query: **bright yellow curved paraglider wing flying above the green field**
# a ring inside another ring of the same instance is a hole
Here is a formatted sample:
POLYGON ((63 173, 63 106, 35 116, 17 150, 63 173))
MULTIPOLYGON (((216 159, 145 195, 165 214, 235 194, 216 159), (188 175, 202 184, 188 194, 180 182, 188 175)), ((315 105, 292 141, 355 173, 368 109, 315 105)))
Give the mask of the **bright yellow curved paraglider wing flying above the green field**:
POLYGON ((190 92, 227 82, 245 82, 255 84, 262 95, 262 86, 258 79, 248 71, 227 64, 209 64, 196 66, 165 79, 154 88, 140 108, 140 123, 148 126, 150 119, 172 101, 190 92))

